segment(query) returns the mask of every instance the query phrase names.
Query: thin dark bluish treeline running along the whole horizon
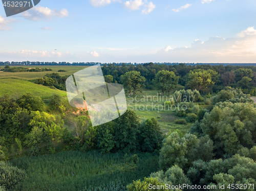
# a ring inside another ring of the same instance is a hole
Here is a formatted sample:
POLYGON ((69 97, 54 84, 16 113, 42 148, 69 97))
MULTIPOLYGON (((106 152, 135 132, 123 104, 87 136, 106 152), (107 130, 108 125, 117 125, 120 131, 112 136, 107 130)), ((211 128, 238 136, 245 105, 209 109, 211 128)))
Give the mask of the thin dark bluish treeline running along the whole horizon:
MULTIPOLYGON (((151 62, 152 63, 152 62, 151 62)), ((0 65, 60 65, 60 66, 92 66, 95 64, 100 64, 100 65, 104 65, 104 64, 114 64, 114 65, 143 65, 143 64, 149 64, 149 63, 124 63, 124 62, 120 62, 120 63, 101 63, 101 62, 30 62, 30 61, 23 61, 23 62, 0 62, 0 65)), ((164 64, 164 65, 179 65, 178 62, 155 62, 154 64, 164 64)), ((256 63, 184 63, 185 65, 223 65, 223 66, 228 66, 228 65, 232 65, 232 66, 256 66, 256 63)))

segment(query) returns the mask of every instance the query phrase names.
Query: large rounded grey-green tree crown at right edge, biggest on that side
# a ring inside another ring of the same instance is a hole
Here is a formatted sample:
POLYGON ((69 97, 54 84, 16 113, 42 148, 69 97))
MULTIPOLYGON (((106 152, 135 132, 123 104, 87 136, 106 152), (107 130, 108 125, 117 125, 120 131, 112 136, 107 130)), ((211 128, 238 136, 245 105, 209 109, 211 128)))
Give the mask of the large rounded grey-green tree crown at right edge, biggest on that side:
POLYGON ((205 113, 200 127, 214 140, 219 154, 233 155, 256 144, 256 108, 250 103, 223 102, 205 113))

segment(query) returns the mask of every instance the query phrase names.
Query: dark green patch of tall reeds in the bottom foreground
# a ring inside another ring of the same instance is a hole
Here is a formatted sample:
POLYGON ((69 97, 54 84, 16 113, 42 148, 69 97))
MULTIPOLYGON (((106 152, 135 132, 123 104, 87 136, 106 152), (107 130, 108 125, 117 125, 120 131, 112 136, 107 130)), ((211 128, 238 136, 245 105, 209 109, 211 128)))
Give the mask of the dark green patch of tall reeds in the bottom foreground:
POLYGON ((157 153, 139 153, 138 156, 136 164, 126 162, 124 154, 101 154, 97 151, 65 151, 53 155, 16 158, 10 162, 24 169, 28 178, 12 190, 85 191, 86 186, 94 187, 111 181, 127 185, 133 180, 142 180, 159 168, 157 153))

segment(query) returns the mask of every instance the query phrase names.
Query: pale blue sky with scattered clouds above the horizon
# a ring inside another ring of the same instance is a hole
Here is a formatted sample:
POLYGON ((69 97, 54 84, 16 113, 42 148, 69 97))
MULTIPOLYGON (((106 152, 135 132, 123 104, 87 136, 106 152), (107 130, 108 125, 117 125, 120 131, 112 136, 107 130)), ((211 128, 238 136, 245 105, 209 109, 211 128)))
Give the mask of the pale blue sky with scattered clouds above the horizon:
POLYGON ((41 0, 6 17, 0 61, 256 63, 255 0, 41 0))

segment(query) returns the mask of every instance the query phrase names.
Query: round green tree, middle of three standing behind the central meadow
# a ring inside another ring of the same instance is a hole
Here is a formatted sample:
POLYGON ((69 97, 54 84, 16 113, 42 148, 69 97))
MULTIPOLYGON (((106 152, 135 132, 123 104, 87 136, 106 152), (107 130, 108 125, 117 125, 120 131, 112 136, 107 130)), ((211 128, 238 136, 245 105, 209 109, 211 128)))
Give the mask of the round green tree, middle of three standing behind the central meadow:
POLYGON ((159 89, 164 95, 164 92, 169 93, 172 89, 176 87, 178 84, 179 78, 176 77, 175 73, 173 71, 167 71, 167 70, 161 70, 158 71, 155 77, 155 82, 158 85, 159 89))

